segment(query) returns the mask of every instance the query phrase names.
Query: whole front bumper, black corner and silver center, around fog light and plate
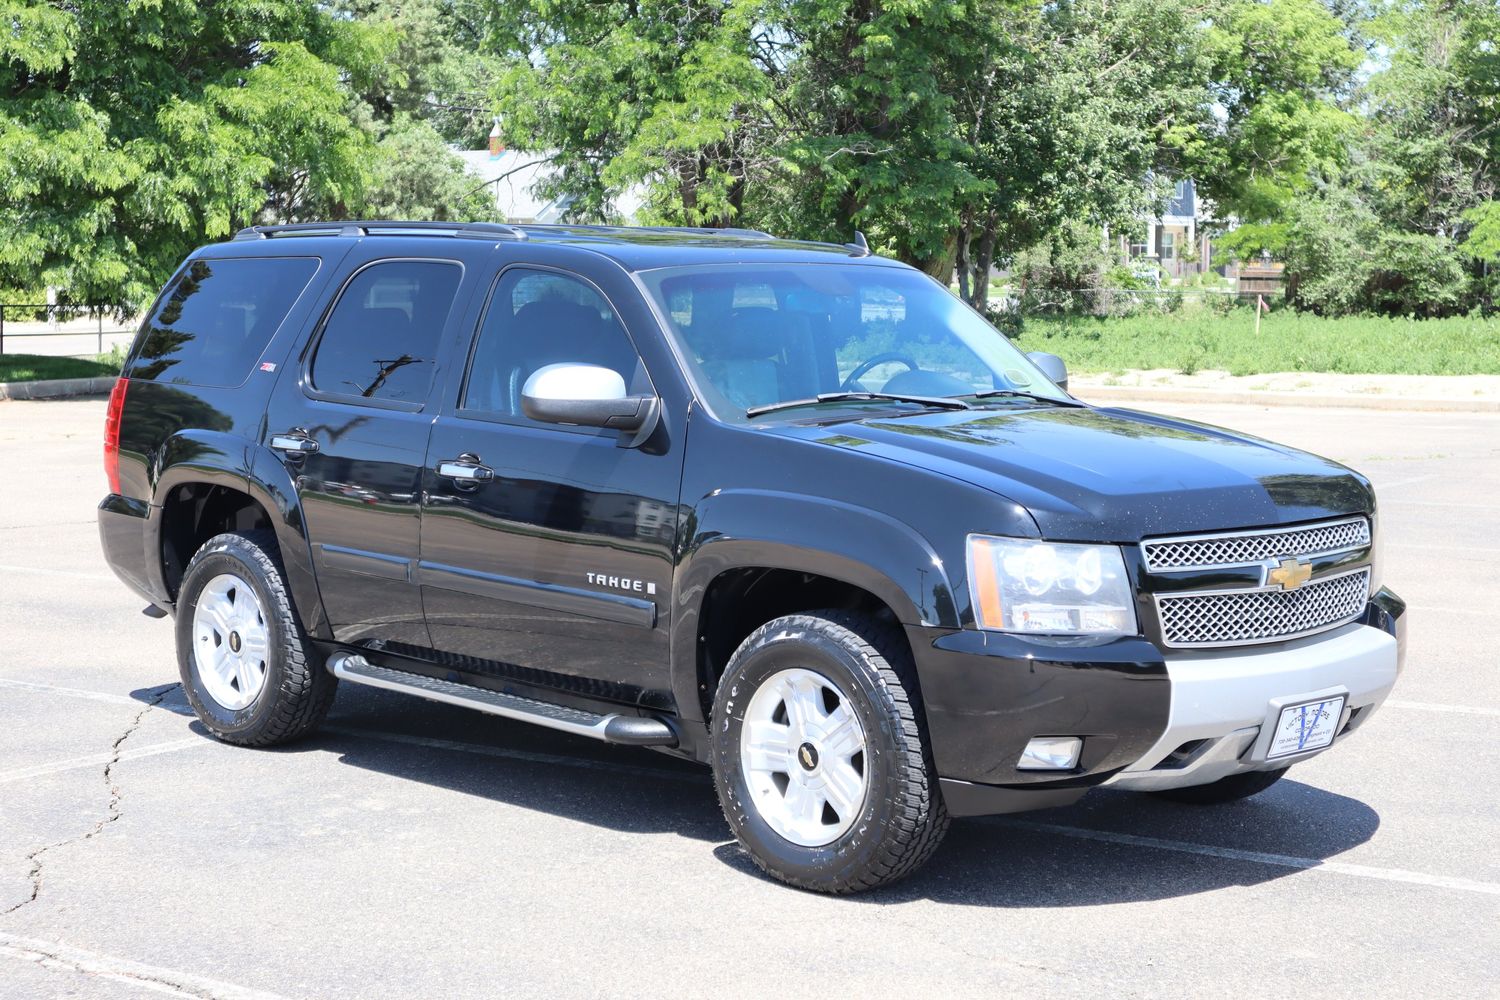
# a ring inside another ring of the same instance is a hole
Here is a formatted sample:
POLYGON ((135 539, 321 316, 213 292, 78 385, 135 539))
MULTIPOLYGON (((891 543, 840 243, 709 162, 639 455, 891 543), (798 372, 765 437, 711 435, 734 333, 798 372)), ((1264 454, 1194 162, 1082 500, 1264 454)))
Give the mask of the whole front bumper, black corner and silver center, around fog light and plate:
POLYGON ((1401 670, 1406 606, 1382 589, 1354 624, 1294 642, 1162 654, 1142 637, 1046 640, 910 628, 928 739, 957 816, 1064 805, 1089 787, 1206 784, 1268 763, 1276 703, 1346 693, 1335 745, 1401 670), (1036 736, 1082 736, 1071 772, 1017 771, 1036 736))

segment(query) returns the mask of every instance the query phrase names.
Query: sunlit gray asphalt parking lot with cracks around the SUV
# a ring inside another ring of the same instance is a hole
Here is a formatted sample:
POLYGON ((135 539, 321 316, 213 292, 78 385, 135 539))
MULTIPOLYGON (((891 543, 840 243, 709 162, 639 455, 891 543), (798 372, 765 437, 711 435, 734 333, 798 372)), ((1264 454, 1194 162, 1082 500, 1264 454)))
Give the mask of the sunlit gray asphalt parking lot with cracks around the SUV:
POLYGON ((1392 700, 1256 799, 958 820, 825 898, 650 751, 350 685, 213 742, 99 553, 104 402, 0 403, 0 997, 1500 996, 1500 415, 1150 408, 1374 478, 1392 700))

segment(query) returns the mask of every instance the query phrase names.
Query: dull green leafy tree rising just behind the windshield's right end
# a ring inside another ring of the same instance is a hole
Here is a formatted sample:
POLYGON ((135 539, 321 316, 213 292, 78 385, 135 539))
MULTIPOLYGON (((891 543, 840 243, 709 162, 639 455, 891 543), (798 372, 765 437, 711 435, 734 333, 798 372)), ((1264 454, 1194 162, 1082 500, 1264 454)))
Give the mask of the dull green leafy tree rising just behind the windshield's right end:
POLYGON ((960 294, 981 310, 992 264, 1022 250, 1077 256, 1088 231, 1082 244, 1102 265, 1100 231, 1156 210, 1179 136, 1210 121, 1192 45, 1200 16, 1185 1, 1062 0, 990 15, 982 63, 954 88, 986 181, 957 240, 960 294))

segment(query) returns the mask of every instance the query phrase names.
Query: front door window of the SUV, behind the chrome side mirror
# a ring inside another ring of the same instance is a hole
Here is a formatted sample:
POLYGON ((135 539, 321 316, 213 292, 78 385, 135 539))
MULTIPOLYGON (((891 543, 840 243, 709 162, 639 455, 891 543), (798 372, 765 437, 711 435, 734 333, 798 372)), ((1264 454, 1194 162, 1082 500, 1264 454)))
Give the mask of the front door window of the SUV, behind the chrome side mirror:
POLYGON ((522 417, 526 379, 561 361, 614 369, 632 393, 648 391, 636 348, 603 295, 567 274, 512 268, 484 310, 464 408, 522 417))

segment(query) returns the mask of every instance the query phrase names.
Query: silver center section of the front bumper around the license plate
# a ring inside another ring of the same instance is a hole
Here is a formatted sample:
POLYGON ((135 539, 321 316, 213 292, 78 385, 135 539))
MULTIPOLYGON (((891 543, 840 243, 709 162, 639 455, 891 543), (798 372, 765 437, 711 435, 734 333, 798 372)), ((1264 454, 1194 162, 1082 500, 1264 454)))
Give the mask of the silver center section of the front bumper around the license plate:
POLYGON ((1396 682, 1396 640, 1378 628, 1340 630, 1272 651, 1214 649, 1167 657, 1167 732, 1110 780, 1150 792, 1209 784, 1240 771, 1269 771, 1323 750, 1266 760, 1269 723, 1282 705, 1347 694, 1338 745, 1386 700, 1396 682))

